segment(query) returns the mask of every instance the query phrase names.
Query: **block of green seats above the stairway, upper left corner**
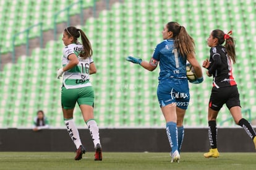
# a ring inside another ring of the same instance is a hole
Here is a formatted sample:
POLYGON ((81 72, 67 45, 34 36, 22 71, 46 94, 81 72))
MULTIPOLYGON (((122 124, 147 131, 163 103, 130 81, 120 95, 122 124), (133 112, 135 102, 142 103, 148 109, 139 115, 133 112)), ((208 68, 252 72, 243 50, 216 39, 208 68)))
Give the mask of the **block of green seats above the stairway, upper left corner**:
MULTIPOLYGON (((76 1, 79 2, 79 1, 76 1)), ((2 27, 0 28, 0 46, 6 48, 1 49, 1 53, 8 53, 12 50, 12 36, 15 33, 23 32, 26 28, 31 27, 37 23, 43 23, 43 30, 53 29, 54 15, 56 12, 65 9, 74 4, 74 1, 54 0, 54 1, 1 1, 0 6, 0 20, 2 27), (6 29, 8 28, 8 29, 6 29), (6 32, 7 30, 7 32, 6 32), (5 32, 5 33, 4 33, 5 32)), ((82 1, 83 8, 93 6, 92 0, 82 1)), ((79 14, 80 3, 70 7, 70 15, 79 14)), ((67 19, 67 12, 61 12, 57 16, 57 23, 65 22, 67 19)), ((40 34, 39 27, 35 27, 30 31, 29 38, 38 37, 40 34)), ((15 45, 25 44, 26 35, 22 34, 16 38, 15 45)))

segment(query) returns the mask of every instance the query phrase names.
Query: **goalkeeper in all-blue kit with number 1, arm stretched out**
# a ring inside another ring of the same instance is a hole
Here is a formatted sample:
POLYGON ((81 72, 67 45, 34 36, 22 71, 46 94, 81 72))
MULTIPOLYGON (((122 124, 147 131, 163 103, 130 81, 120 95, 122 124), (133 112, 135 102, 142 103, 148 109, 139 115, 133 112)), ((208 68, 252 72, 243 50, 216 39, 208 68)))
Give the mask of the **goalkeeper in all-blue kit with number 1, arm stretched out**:
POLYGON ((191 83, 203 82, 203 74, 195 58, 194 40, 185 27, 177 22, 168 22, 164 25, 162 35, 164 41, 156 46, 150 62, 132 56, 126 59, 150 71, 155 70, 160 62, 158 102, 166 121, 171 162, 179 163, 179 153, 184 138, 183 119, 190 99, 186 62, 190 62, 198 77, 191 83))

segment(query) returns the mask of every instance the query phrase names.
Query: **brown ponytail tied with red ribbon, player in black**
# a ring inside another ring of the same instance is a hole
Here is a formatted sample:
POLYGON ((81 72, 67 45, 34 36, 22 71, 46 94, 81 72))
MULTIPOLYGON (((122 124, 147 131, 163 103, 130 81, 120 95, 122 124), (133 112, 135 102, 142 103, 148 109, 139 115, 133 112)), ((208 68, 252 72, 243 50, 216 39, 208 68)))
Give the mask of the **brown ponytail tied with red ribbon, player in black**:
POLYGON ((226 41, 224 48, 226 48, 228 56, 231 57, 233 63, 236 63, 236 50, 235 50, 234 38, 229 36, 231 34, 232 34, 232 31, 230 31, 228 34, 224 33, 222 30, 213 30, 211 32, 211 35, 214 38, 218 39, 218 45, 222 45, 226 41))

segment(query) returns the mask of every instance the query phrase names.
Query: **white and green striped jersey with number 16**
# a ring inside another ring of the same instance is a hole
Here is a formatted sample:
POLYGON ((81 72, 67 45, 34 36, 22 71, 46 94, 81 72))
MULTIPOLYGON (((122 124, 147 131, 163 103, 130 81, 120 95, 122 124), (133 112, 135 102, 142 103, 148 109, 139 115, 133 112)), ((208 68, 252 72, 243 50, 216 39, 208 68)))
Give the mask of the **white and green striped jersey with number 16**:
POLYGON ((77 66, 65 71, 63 74, 63 84, 67 89, 92 86, 89 81, 89 72, 90 63, 93 62, 93 59, 92 57, 81 59, 79 54, 82 50, 83 46, 80 43, 70 44, 63 49, 62 67, 65 67, 67 64, 69 64, 69 59, 67 59, 67 57, 70 54, 75 54, 79 59, 79 64, 77 64, 77 66))

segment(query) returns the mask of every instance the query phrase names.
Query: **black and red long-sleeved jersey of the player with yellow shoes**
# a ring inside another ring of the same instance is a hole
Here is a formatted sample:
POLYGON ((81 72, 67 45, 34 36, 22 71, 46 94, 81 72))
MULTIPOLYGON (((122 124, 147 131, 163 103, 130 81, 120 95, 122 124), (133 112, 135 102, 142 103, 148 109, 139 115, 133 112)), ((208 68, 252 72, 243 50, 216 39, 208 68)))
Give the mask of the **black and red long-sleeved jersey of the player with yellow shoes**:
POLYGON ((209 74, 213 75, 213 87, 229 87, 236 85, 233 77, 232 62, 222 45, 210 49, 209 74))

